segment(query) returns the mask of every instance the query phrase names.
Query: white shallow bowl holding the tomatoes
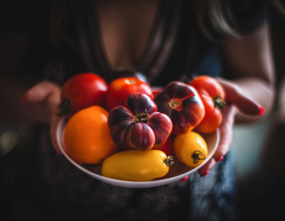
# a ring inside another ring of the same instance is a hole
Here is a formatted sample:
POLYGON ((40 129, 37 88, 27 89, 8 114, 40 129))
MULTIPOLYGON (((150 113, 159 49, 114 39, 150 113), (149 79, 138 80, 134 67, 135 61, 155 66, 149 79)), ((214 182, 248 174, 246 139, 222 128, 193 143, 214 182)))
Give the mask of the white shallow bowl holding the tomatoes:
POLYGON ((86 174, 89 174, 90 176, 101 180, 103 182, 113 184, 116 186, 124 186, 124 187, 133 187, 133 188, 146 188, 146 187, 154 187, 154 186, 161 186, 164 184, 168 184, 177 180, 180 180, 184 178, 185 176, 193 173, 194 171, 201 168, 205 163, 207 163, 215 153, 219 140, 220 140, 220 132, 219 130, 216 130, 215 132, 211 134, 201 134, 208 145, 208 156, 206 160, 200 164, 199 166, 195 168, 191 168, 186 166, 185 164, 181 163, 175 156, 173 156, 174 164, 169 168, 168 174, 164 177, 157 178, 156 180, 152 181, 144 181, 144 182, 138 182, 138 181, 124 181, 124 180, 115 180, 108 177, 101 176, 101 165, 98 166, 90 166, 86 164, 80 164, 76 163, 74 160, 72 160, 65 152, 64 150, 64 142, 63 142, 63 135, 64 135, 64 128, 67 124, 67 119, 63 118, 57 128, 57 142, 60 146, 61 151, 63 152, 64 156, 78 169, 82 170, 86 174))

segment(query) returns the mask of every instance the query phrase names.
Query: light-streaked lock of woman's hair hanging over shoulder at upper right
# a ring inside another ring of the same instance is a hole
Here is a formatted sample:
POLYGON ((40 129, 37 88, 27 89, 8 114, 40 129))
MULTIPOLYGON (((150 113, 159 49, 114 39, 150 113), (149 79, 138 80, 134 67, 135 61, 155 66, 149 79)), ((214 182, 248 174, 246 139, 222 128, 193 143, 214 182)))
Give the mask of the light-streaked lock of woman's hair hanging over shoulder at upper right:
POLYGON ((227 8, 223 0, 193 0, 196 21, 203 34, 210 40, 215 40, 208 23, 222 36, 237 38, 239 33, 231 26, 227 17, 227 8))

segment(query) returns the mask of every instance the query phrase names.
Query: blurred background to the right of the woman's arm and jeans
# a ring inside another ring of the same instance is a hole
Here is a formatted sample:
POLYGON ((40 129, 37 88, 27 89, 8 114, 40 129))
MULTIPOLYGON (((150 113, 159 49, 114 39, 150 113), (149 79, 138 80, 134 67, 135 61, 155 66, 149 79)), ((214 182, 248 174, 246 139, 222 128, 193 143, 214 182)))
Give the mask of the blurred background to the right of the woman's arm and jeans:
POLYGON ((285 219, 285 4, 268 2, 276 99, 267 119, 234 128, 240 220, 285 219))

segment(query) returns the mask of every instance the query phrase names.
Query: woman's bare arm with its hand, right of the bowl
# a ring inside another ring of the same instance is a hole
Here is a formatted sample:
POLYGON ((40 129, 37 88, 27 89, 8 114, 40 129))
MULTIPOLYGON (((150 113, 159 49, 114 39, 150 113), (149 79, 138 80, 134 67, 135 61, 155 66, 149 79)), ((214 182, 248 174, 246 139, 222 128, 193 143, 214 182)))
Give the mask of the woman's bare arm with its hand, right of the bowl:
POLYGON ((274 102, 275 76, 268 26, 240 39, 225 39, 222 49, 227 77, 232 81, 220 79, 227 101, 220 125, 221 141, 213 158, 198 170, 201 176, 227 154, 234 123, 260 119, 260 106, 269 114, 274 102))

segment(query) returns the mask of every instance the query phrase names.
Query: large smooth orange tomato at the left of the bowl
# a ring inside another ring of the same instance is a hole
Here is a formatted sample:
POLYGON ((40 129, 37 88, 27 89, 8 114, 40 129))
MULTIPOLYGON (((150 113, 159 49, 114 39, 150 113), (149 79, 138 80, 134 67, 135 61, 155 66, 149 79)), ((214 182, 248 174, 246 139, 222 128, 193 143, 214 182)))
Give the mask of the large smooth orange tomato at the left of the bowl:
POLYGON ((101 164, 108 156, 118 152, 107 124, 108 112, 92 106, 77 112, 64 130, 66 153, 76 162, 101 164))

